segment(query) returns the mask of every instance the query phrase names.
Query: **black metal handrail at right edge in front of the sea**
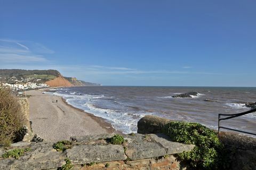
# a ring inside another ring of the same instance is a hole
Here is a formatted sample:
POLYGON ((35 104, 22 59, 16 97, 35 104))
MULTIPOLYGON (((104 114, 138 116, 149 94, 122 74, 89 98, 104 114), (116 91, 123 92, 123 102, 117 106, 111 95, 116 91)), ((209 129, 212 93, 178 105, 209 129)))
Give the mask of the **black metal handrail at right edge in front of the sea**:
POLYGON ((246 114, 249 114, 249 113, 252 113, 252 112, 256 112, 256 108, 251 109, 250 111, 247 111, 247 112, 237 113, 237 114, 219 114, 218 134, 220 133, 220 128, 222 128, 222 129, 228 129, 228 130, 232 130, 232 131, 237 131, 237 132, 242 132, 242 133, 256 135, 256 133, 245 132, 245 131, 241 131, 241 130, 236 130, 236 129, 231 129, 231 128, 227 128, 227 127, 224 127, 224 126, 220 126, 220 121, 228 120, 230 118, 234 118, 234 117, 238 117, 238 116, 243 116, 243 115, 246 115, 246 114), (229 117, 221 118, 221 116, 229 116, 229 117))

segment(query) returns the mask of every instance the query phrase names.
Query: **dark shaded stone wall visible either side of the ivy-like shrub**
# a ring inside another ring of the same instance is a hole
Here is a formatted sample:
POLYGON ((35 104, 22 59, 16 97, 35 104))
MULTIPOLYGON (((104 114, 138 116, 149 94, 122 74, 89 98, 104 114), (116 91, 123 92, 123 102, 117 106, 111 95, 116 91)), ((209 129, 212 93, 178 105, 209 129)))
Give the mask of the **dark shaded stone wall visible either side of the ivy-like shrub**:
MULTIPOLYGON (((138 133, 159 133, 165 124, 171 121, 156 116, 145 116, 138 122, 138 133)), ((233 132, 221 132, 219 139, 228 153, 227 169, 256 169, 256 138, 233 132)))

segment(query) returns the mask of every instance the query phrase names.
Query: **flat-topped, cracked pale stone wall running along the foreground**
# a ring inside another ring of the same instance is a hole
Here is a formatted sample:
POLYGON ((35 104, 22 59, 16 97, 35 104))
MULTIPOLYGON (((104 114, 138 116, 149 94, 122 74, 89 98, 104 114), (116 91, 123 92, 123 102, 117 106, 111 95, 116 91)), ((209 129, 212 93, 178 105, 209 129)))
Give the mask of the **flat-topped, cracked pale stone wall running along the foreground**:
POLYGON ((53 142, 22 141, 11 147, 0 147, 0 155, 12 149, 27 150, 18 159, 12 156, 0 157, 0 169, 57 169, 65 166, 68 158, 74 169, 176 170, 185 169, 186 166, 180 164, 173 154, 194 148, 194 145, 172 142, 163 134, 125 134, 122 145, 110 143, 113 136, 114 134, 101 134, 71 137, 66 144, 58 145, 61 150, 54 147, 53 142))

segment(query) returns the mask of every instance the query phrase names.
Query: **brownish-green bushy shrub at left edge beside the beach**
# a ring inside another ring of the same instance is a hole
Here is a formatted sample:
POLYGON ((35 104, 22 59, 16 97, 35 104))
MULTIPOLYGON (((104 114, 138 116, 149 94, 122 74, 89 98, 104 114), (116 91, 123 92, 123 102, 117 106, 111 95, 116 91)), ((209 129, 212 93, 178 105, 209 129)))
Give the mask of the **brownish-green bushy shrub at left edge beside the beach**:
POLYGON ((0 145, 10 145, 23 125, 25 115, 18 98, 10 89, 0 87, 0 145))

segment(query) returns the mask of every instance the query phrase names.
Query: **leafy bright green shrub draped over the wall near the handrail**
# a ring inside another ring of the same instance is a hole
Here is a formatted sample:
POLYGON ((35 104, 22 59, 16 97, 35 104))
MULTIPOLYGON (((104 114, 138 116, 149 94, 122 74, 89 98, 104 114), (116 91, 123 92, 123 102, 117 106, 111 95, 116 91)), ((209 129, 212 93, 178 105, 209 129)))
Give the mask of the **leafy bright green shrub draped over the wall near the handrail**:
POLYGON ((175 142, 195 145, 193 150, 178 154, 180 159, 197 169, 218 169, 223 145, 213 130, 199 123, 171 122, 165 133, 175 142))

